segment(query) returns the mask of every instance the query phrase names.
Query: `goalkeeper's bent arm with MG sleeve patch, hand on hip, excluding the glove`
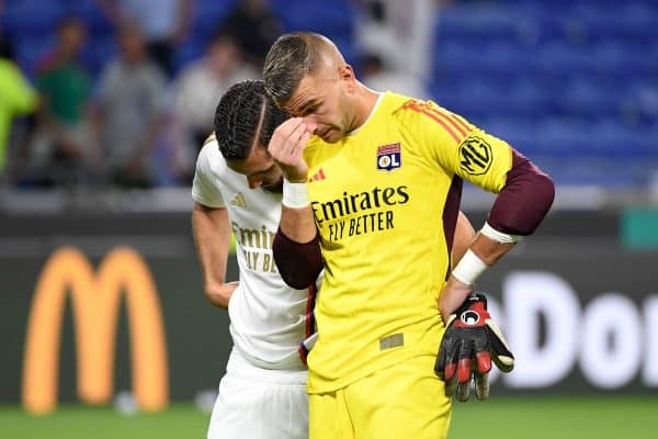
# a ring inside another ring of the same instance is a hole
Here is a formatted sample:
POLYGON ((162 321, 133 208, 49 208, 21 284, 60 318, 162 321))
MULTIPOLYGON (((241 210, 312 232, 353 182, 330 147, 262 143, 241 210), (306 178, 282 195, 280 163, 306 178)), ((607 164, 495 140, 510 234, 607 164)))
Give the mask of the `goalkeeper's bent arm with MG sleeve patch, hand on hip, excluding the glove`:
POLYGON ((555 187, 509 144, 431 101, 410 100, 397 114, 438 172, 498 194, 485 226, 440 295, 439 309, 446 319, 473 292, 475 279, 536 229, 553 203, 555 187))

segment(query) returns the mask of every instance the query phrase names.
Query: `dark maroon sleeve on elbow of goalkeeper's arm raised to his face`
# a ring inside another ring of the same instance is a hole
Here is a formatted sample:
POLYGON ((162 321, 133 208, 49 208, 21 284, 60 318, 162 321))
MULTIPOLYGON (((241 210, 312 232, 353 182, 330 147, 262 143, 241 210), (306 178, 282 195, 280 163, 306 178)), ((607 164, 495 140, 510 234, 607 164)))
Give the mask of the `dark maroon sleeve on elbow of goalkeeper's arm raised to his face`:
POLYGON ((308 288, 322 271, 322 254, 317 235, 311 241, 300 244, 285 236, 280 228, 274 236, 272 252, 281 278, 294 289, 308 288))

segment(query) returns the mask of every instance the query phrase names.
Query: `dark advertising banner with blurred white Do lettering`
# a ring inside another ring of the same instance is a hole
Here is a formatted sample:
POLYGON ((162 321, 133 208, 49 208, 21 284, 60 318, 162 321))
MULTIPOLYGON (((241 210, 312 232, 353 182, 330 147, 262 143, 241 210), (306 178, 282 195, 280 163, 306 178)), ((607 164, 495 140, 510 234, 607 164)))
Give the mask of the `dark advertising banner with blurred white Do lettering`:
MULTIPOLYGON (((532 247, 532 245, 529 245, 532 247)), ((506 390, 645 392, 658 387, 658 254, 523 255, 486 273, 517 367, 506 390)))

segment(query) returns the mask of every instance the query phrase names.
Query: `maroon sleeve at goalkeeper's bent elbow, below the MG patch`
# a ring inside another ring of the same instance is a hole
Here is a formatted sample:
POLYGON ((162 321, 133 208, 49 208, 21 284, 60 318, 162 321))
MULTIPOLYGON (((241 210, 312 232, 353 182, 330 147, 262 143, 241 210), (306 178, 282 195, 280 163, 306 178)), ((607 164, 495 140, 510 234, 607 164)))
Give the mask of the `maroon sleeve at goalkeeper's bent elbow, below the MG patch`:
POLYGON ((555 185, 526 157, 512 149, 512 169, 489 212, 487 223, 498 232, 531 235, 553 204, 555 185))

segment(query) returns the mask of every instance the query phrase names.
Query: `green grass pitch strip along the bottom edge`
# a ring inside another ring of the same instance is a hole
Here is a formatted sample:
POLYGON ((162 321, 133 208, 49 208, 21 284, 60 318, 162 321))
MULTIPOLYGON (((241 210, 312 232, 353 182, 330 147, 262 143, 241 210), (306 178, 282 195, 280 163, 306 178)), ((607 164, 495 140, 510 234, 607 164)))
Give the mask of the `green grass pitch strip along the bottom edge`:
MULTIPOLYGON (((204 438, 208 415, 192 404, 159 414, 121 415, 113 408, 60 407, 30 416, 0 406, 0 437, 26 438, 204 438)), ((498 397, 455 403, 451 439, 619 439, 658 437, 658 396, 597 398, 498 397)), ((258 439, 258 438, 245 438, 258 439)), ((406 438, 404 438, 406 439, 406 438)))

